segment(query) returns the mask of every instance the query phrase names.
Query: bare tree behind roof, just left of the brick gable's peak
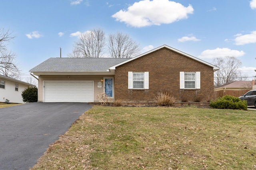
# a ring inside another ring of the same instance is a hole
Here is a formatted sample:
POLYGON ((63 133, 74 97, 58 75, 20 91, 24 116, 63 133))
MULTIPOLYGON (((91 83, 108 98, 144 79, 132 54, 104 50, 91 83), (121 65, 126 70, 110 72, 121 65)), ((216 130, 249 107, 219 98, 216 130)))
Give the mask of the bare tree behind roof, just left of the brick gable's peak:
POLYGON ((116 32, 108 37, 108 51, 112 58, 131 58, 140 53, 140 45, 128 34, 116 32))

